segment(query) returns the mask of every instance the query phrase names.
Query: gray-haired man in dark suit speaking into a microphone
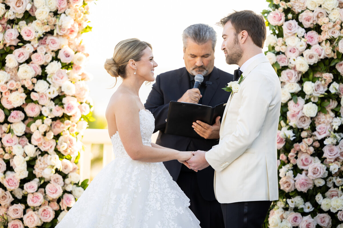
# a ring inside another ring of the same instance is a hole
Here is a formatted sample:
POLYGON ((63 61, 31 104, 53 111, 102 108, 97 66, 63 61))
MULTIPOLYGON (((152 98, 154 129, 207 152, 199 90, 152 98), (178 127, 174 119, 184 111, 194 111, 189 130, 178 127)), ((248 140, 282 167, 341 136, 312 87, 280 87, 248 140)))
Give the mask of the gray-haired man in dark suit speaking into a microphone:
MULTIPOLYGON (((194 24, 182 33, 185 67, 157 75, 144 104, 155 117, 155 130, 159 131, 156 144, 180 151, 210 150, 218 144, 220 117, 213 125, 199 121, 193 128, 203 139, 165 134, 170 101, 190 102, 214 107, 226 103, 229 93, 222 90, 233 75, 214 66, 216 32, 205 24, 194 24), (199 89, 193 88, 194 76, 204 77, 199 89)), ((198 122, 198 121, 197 121, 198 122)), ((200 220, 202 228, 224 228, 220 203, 214 196, 214 170, 208 167, 195 172, 177 160, 164 162, 167 170, 190 199, 189 208, 200 220)))

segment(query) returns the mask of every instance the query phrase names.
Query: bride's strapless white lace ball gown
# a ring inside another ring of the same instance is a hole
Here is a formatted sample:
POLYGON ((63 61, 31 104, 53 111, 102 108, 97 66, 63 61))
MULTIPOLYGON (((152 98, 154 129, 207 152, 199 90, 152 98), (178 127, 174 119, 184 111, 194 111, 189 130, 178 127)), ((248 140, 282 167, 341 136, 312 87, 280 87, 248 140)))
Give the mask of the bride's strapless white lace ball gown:
MULTIPOLYGON (((154 117, 139 111, 144 145, 151 146, 154 117)), ((191 228, 199 220, 189 199, 162 162, 132 160, 118 132, 111 137, 115 159, 106 165, 56 228, 191 228)))

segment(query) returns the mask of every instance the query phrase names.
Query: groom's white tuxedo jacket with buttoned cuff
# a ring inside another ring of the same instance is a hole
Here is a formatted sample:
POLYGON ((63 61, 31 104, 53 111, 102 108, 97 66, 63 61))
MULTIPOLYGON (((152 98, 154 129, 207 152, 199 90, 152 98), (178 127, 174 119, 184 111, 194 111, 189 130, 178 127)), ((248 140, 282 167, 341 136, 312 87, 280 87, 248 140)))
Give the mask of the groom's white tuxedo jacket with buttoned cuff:
POLYGON ((228 99, 219 144, 206 152, 220 203, 279 199, 276 135, 281 107, 279 77, 262 55, 243 72, 228 99))

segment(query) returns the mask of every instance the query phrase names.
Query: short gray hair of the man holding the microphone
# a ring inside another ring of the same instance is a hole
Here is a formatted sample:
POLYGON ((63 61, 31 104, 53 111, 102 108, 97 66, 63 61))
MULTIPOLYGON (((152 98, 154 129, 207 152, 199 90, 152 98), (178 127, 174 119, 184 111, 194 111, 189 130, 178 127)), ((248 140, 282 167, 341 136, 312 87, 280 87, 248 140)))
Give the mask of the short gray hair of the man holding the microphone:
POLYGON ((191 39, 197 44, 204 44, 209 40, 212 41, 212 49, 214 50, 217 42, 217 33, 214 29, 206 24, 194 24, 188 26, 182 33, 182 42, 184 42, 184 49, 187 48, 187 40, 191 39))

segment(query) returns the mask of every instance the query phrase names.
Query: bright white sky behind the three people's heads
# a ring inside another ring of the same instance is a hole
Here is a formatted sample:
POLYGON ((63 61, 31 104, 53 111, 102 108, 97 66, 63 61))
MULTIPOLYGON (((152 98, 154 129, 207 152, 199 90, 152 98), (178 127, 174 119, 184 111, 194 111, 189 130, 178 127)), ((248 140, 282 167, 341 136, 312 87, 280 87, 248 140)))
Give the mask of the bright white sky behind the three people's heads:
MULTIPOLYGON (((93 112, 97 116, 104 116, 107 103, 121 82, 119 79, 117 85, 111 88, 115 78, 106 72, 104 63, 113 56, 114 47, 119 41, 138 38, 150 43, 158 64, 154 72, 156 77, 185 66, 182 59, 182 31, 192 24, 208 24, 217 32, 214 65, 233 73, 237 65, 225 63, 221 50, 222 28, 216 23, 234 10, 261 13, 268 8, 268 3, 264 0, 99 0, 89 6, 91 14, 88 25, 93 29, 82 36, 86 52, 90 54, 85 70, 93 75, 93 80, 88 82, 94 102, 93 112)), ((153 83, 143 84, 140 89, 139 96, 143 104, 153 83)))

